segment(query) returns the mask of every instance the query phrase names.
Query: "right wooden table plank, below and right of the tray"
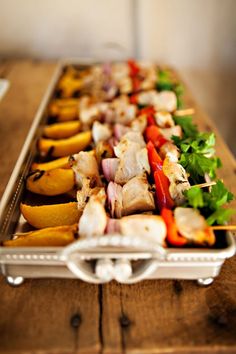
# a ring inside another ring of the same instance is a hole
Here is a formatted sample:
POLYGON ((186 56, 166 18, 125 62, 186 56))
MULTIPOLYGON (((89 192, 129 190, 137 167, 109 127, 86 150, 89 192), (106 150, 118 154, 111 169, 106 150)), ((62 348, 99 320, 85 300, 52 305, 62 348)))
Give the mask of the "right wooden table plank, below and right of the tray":
MULTIPOLYGON (((185 101, 187 106, 196 108, 195 121, 199 128, 216 132, 216 153, 224 165, 219 177, 236 193, 236 164, 232 154, 188 90, 185 101)), ((236 222, 235 217, 233 222, 236 222)), ((177 280, 106 285, 103 292, 104 352, 236 353, 235 269, 234 257, 225 263, 220 276, 209 288, 177 280), (110 334, 111 328, 113 334, 110 334)))

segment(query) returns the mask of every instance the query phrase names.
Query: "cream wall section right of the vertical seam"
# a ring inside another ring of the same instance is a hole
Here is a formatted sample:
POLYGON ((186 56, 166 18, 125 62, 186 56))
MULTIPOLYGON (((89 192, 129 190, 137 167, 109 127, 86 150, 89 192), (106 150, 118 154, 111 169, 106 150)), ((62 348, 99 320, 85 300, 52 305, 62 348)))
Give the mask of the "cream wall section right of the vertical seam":
POLYGON ((141 56, 183 68, 235 68, 235 0, 139 1, 141 56))

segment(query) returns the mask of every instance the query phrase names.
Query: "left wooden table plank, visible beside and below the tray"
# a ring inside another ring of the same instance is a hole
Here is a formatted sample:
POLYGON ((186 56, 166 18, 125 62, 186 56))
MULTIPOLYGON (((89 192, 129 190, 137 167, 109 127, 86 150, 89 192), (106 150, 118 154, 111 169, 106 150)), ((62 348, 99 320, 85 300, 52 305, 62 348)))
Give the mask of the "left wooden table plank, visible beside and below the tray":
MULTIPOLYGON (((54 69, 55 63, 26 60, 0 64, 0 72, 11 82, 0 103, 0 194, 54 69)), ((100 351, 97 286, 38 279, 11 288, 0 277, 0 294, 1 353, 100 351)))

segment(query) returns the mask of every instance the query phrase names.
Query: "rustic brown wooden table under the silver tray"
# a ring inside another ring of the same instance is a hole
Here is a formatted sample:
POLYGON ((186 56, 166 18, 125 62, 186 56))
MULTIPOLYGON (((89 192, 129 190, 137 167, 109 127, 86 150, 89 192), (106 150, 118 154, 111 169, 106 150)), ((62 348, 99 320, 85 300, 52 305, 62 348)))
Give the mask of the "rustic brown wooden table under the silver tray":
MULTIPOLYGON (((0 62, 11 88, 0 102, 0 193, 4 191, 50 77, 53 62, 0 62)), ((191 96, 186 97, 195 105, 191 96)), ((216 102, 217 104, 217 102, 216 102)), ((215 130, 197 108, 203 130, 215 130)), ((236 192, 235 161, 217 133, 220 171, 236 192)), ((236 221, 236 219, 234 219, 236 221)), ((208 288, 192 281, 27 280, 0 277, 0 353, 236 353, 236 258, 208 288)))

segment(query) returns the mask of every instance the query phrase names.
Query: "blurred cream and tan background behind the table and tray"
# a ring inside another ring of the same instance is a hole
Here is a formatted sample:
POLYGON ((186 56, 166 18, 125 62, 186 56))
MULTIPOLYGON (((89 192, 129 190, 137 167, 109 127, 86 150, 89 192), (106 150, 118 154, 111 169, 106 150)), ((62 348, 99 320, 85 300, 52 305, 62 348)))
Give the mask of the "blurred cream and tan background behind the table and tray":
POLYGON ((0 0, 0 57, 172 65, 236 154, 235 14, 235 0, 0 0))

